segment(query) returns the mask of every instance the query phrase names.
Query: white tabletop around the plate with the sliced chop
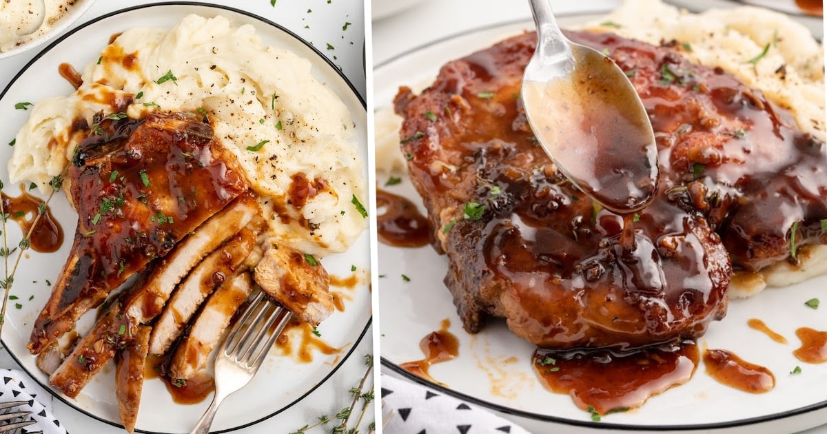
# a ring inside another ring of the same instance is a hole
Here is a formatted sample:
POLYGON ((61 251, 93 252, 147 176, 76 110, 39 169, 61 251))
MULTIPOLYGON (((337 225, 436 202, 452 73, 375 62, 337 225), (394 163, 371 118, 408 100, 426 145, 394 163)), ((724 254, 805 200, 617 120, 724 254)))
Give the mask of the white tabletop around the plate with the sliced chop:
MULTIPOLYGON (((94 17, 100 17, 108 12, 153 2, 154 1, 151 0, 131 0, 130 2, 100 0, 96 2, 73 27, 85 21, 92 20, 94 17)), ((326 47, 326 44, 330 43, 335 47, 334 50, 325 50, 324 48, 320 48, 320 50, 322 50, 334 64, 341 67, 342 72, 350 79, 362 98, 365 98, 366 79, 362 55, 365 35, 363 31, 365 27, 365 8, 361 0, 336 0, 335 2, 328 2, 327 0, 286 2, 280 0, 276 3, 275 7, 271 7, 268 0, 246 2, 212 0, 203 1, 202 3, 223 4, 230 7, 243 8, 246 11, 253 12, 258 16, 265 17, 270 21, 275 21, 288 27, 289 30, 294 31, 294 33, 304 38, 305 41, 312 42, 316 47, 326 47), (307 13, 308 8, 313 9, 312 14, 307 13), (347 31, 342 31, 342 26, 346 21, 350 22, 351 25, 348 26, 347 31), (304 27, 311 23, 312 25, 309 25, 309 28, 304 27)), ((17 74, 17 71, 22 69, 23 65, 31 60, 41 48, 43 47, 0 60, 0 88, 6 88, 10 80, 17 74)), ((282 413, 285 417, 276 415, 264 422, 247 427, 238 432, 243 431, 250 434, 294 432, 302 425, 292 426, 291 423, 290 426, 284 426, 281 421, 288 416, 288 413, 292 413, 289 416, 291 419, 299 418, 299 420, 306 421, 304 423, 313 424, 320 414, 332 415, 342 408, 348 407, 351 400, 351 394, 348 393, 348 389, 358 384, 359 379, 361 379, 361 376, 365 373, 362 355, 370 354, 371 351, 372 336, 371 331, 368 331, 351 358, 348 359, 325 384, 306 398, 313 403, 311 408, 294 406, 294 408, 289 408, 285 413, 282 413)), ((0 368, 21 369, 12 357, 7 354, 7 351, 0 351, 0 368)), ((70 433, 120 434, 123 432, 120 428, 112 427, 85 416, 83 413, 60 402, 58 399, 53 399, 52 403, 55 417, 63 423, 70 433)), ((366 421, 362 424, 361 432, 365 432, 367 423, 373 420, 373 415, 369 414, 366 416, 366 421)), ((377 423, 377 425, 379 424, 377 423)), ((310 431, 310 433, 313 432, 325 431, 322 428, 316 428, 310 431)))

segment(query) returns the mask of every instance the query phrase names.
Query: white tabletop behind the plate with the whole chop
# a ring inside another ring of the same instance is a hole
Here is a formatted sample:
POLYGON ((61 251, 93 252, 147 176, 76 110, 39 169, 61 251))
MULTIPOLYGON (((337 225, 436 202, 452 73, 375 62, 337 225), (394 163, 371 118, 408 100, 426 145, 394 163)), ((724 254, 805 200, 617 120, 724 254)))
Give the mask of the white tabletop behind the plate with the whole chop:
MULTIPOLYGON (((551 0, 555 13, 599 12, 616 7, 621 0, 572 2, 551 0)), ((692 2, 684 2, 692 3, 692 2)), ((729 6, 715 1, 716 6, 729 6)), ((415 48, 440 41, 464 31, 508 21, 530 20, 528 2, 502 0, 423 0, 391 17, 372 22, 372 61, 374 66, 415 48), (508 4, 508 7, 503 7, 508 4)), ((377 106, 380 102, 375 103, 377 106)), ((381 314, 381 312, 380 312, 381 314)), ((827 422, 827 421, 825 421, 827 422)), ((599 430, 605 432, 605 430, 599 430)), ((756 430, 756 434, 762 434, 756 430)), ((827 434, 827 424, 805 434, 827 434)))

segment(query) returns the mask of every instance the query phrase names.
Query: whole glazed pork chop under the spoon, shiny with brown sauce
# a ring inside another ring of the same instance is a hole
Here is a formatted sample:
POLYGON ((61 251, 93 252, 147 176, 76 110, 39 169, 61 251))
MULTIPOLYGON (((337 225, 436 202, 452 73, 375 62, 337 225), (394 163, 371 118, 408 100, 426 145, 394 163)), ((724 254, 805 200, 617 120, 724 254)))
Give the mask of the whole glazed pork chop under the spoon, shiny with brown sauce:
POLYGON ((571 32, 627 72, 653 122, 662 179, 653 204, 621 217, 552 165, 519 90, 526 33, 442 67, 395 109, 409 174, 466 331, 504 317, 538 346, 648 346, 702 335, 724 316, 735 269, 827 242, 825 144, 722 69, 680 47, 571 32), (783 212, 778 212, 778 210, 783 212), (797 222, 797 223, 796 223, 797 222))

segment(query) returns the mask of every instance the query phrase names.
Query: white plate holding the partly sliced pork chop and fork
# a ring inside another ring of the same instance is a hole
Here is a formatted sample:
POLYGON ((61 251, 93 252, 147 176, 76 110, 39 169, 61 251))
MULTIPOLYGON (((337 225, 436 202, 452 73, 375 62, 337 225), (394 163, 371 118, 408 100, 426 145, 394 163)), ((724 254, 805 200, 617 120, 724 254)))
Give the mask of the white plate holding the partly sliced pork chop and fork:
MULTIPOLYGON (((4 191, 11 196, 19 195, 17 185, 8 184, 5 169, 5 161, 12 155, 13 149, 7 143, 28 117, 28 112, 15 110, 15 103, 34 103, 42 98, 70 93, 72 88, 60 78, 58 65, 61 62, 69 62, 80 70, 88 62, 98 58, 98 53, 112 34, 139 26, 169 28, 190 13, 198 13, 205 17, 222 15, 236 25, 250 23, 256 26, 265 44, 292 50, 310 60, 313 64, 313 76, 337 93, 350 110, 360 137, 360 157, 367 166, 365 104, 338 69, 308 43, 275 23, 225 7, 196 4, 147 5, 113 12, 72 31, 50 45, 41 55, 37 55, 12 80, 4 93, 0 94, 0 117, 3 119, 0 124, 0 161, 3 161, 0 173, 6 184, 4 191)), ((367 169, 364 174, 367 176, 367 169)), ((50 208, 64 228, 66 240, 62 248, 53 254, 38 254, 31 250, 27 252, 31 257, 22 260, 12 289, 12 293, 19 297, 18 301, 22 301, 23 306, 16 309, 14 302, 11 303, 2 334, 2 341, 7 350, 41 384, 48 384, 47 378, 37 370, 35 358, 26 351, 26 342, 31 332, 31 323, 50 291, 45 279, 54 282, 60 272, 71 246, 70 238, 74 234, 77 220, 76 214, 69 208, 62 193, 55 196, 50 208), (28 301, 31 295, 35 298, 28 301)), ((9 237, 10 246, 17 246, 22 237, 14 223, 9 225, 9 237)), ((323 384, 347 360, 353 348, 361 341, 370 323, 368 231, 362 234, 346 254, 325 258, 324 265, 330 274, 342 277, 353 274, 351 265, 355 265, 356 274, 359 276, 360 284, 355 289, 341 289, 352 296, 352 300, 346 300, 345 311, 334 313, 318 327, 324 341, 342 350, 337 355, 321 355, 314 351, 313 362, 308 364, 299 363, 292 357, 278 356, 278 351, 274 351, 274 355, 265 361, 265 365, 251 384, 242 392, 227 398, 222 404, 213 423, 214 430, 225 431, 246 427, 296 404, 306 406, 308 413, 311 413, 314 409, 313 403, 302 402, 302 399, 323 384)), ((89 315, 84 318, 89 319, 88 317, 89 315)), ((76 401, 68 400, 69 405, 103 422, 119 425, 113 371, 112 364, 108 365, 107 370, 98 374, 76 401)), ((59 393, 55 392, 55 396, 66 400, 59 393)), ((196 405, 176 404, 159 379, 148 380, 144 385, 137 427, 146 432, 189 432, 208 403, 209 398, 196 405)), ((304 422, 298 426, 301 425, 304 425, 304 422)))

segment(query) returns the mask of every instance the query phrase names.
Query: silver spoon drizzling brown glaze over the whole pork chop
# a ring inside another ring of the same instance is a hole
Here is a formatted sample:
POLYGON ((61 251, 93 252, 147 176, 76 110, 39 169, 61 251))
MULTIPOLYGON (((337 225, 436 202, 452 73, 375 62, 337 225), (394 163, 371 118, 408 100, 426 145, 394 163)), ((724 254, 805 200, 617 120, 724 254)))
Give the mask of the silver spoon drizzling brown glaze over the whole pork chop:
POLYGON ((557 169, 618 213, 657 192, 657 145, 643 103, 614 61, 563 36, 548 0, 528 0, 537 50, 523 75, 528 123, 557 169))

